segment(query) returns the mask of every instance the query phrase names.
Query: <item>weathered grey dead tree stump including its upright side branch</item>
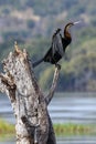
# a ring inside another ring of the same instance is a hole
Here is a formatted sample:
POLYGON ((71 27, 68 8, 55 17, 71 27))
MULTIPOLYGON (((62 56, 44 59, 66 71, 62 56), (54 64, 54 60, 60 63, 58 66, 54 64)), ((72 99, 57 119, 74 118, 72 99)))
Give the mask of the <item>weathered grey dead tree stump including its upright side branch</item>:
POLYGON ((6 93, 11 101, 17 121, 17 144, 55 144, 47 104, 55 91, 60 66, 55 68, 51 90, 45 96, 34 76, 28 52, 21 51, 17 43, 14 52, 10 52, 2 64, 0 91, 6 93))

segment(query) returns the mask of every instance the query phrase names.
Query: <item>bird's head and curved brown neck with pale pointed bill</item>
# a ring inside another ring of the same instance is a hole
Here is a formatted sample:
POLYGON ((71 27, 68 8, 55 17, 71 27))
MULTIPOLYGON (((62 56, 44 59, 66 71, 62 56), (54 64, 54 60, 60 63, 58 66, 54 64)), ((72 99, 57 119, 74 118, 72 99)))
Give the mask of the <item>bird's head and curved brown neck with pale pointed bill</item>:
POLYGON ((67 24, 65 25, 65 28, 64 28, 64 37, 65 37, 65 38, 68 38, 68 39, 72 39, 72 38, 71 38, 71 33, 70 33, 70 28, 73 27, 73 25, 75 25, 75 24, 78 24, 79 22, 81 22, 81 21, 67 23, 67 24))

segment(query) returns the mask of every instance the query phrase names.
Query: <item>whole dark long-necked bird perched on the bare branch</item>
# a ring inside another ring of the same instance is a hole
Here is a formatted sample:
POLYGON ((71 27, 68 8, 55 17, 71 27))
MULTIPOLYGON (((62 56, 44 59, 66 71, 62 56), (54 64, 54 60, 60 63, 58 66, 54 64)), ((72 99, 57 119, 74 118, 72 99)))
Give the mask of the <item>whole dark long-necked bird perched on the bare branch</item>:
POLYGON ((61 29, 58 28, 52 37, 52 44, 45 55, 33 63, 33 68, 38 66, 41 62, 49 62, 51 64, 57 64, 57 62, 63 58, 67 45, 72 42, 72 35, 70 33, 70 28, 79 23, 77 22, 68 22, 63 32, 63 37, 61 34, 61 29))

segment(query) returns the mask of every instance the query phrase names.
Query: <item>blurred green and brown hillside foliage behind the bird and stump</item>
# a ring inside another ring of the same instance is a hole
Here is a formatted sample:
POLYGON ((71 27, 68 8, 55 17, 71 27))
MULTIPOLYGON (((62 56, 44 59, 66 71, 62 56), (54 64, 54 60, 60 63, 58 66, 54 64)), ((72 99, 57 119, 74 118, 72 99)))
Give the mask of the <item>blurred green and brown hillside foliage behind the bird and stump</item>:
MULTIPOLYGON (((51 47, 55 29, 68 21, 81 20, 72 29, 73 42, 67 48, 57 91, 96 91, 96 0, 0 0, 0 61, 13 51, 17 40, 30 59, 41 59, 51 47)), ((35 68, 42 89, 51 85, 54 65, 35 68)))

